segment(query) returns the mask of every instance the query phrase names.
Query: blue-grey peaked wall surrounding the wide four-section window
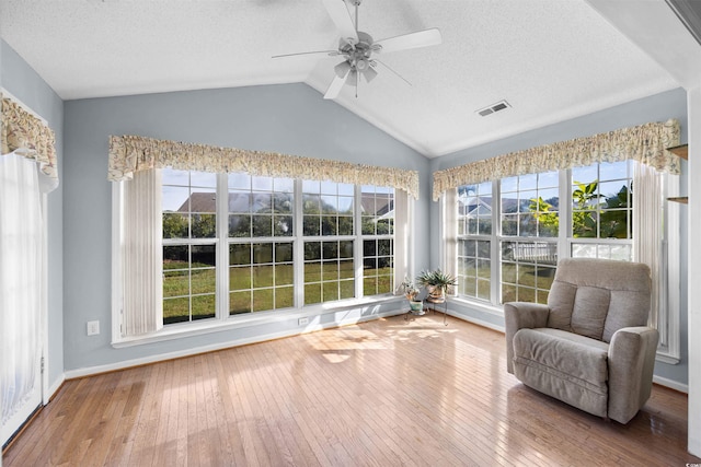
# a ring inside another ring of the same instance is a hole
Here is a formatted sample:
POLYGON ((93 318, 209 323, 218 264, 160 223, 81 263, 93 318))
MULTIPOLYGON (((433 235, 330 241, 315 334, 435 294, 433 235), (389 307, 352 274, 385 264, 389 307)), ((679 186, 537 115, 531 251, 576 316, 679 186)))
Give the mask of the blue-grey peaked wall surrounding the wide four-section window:
MULTIPOLYGON (((295 317, 168 342, 112 348, 108 332, 112 188, 106 179, 110 135, 141 135, 415 170, 421 174, 423 196, 416 213, 420 219, 427 215, 428 160, 337 104, 324 101, 306 84, 67 101, 65 110, 67 371, 298 328, 295 317), (92 319, 102 325, 100 336, 85 336, 85 323, 92 319)), ((421 245, 415 254, 416 267, 427 267, 428 250, 423 245, 428 244, 428 226, 421 223, 415 233, 416 245, 421 245)))

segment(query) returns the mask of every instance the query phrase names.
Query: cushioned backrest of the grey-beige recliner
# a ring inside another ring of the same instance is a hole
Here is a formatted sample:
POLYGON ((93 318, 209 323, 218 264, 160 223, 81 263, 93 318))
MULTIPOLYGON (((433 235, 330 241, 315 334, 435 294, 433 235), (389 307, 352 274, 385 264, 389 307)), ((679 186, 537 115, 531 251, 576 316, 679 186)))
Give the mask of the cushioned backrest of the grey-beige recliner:
POLYGON ((548 327, 610 342, 622 327, 645 326, 650 268, 640 262, 567 258, 548 295, 548 327))

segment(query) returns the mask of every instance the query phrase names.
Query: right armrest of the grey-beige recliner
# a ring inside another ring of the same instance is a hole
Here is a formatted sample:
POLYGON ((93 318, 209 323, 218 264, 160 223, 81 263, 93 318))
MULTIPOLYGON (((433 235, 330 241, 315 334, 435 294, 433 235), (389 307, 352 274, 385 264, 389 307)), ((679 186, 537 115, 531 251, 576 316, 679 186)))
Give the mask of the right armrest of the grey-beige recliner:
POLYGON ((652 327, 627 327, 609 345, 608 417, 628 423, 650 398, 659 332, 652 327))

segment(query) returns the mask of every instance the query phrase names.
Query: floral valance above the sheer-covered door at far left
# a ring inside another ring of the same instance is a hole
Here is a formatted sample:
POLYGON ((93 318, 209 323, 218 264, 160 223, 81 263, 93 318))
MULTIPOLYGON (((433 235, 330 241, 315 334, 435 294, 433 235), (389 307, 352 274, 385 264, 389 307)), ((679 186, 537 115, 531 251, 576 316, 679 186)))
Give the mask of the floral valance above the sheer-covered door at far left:
POLYGON ((1 115, 0 154, 15 152, 35 160, 44 174, 42 190, 50 191, 56 188, 58 171, 54 130, 7 96, 2 96, 1 115))

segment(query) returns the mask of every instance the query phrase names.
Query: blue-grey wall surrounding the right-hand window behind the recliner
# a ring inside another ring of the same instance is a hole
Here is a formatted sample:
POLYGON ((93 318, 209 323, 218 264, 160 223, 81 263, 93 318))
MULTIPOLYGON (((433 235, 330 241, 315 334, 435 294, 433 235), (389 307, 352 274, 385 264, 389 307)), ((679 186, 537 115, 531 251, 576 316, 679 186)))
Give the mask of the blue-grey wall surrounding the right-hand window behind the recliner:
MULTIPOLYGON (((498 115, 486 118, 498 118, 498 115)), ((483 159, 495 157, 497 155, 508 154, 515 151, 521 151, 538 145, 550 144, 558 141, 566 141, 574 138, 588 137, 596 133, 607 132, 619 128, 633 127, 650 121, 665 121, 669 118, 676 118, 681 124, 681 141, 687 141, 687 93, 682 89, 677 89, 653 95, 651 97, 633 101, 606 110, 600 110, 583 117, 550 125, 521 135, 505 138, 491 143, 458 151, 430 161, 432 174, 436 171, 468 164, 470 162, 483 159)), ((687 164, 682 161, 682 174, 680 177, 680 192, 687 192, 687 164)), ((432 180, 433 188, 433 180, 432 180)), ((437 207, 437 203, 433 203, 437 207)), ((430 222, 430 238, 440 238, 438 225, 438 210, 433 209, 430 222)), ((668 378, 682 385, 688 383, 688 352, 687 352, 687 212, 682 207, 680 210, 680 310, 679 322, 681 332, 681 362, 676 365, 657 362, 655 365, 655 374, 657 376, 668 378)), ((676 233, 671 233, 673 235, 676 233)), ((430 244, 432 267, 438 267, 439 250, 438 242, 430 244)), ((483 310, 470 307, 468 305, 459 306, 455 304, 452 307, 456 312, 463 314, 466 317, 479 319, 486 324, 498 327, 504 326, 503 315, 489 313, 483 310)))

